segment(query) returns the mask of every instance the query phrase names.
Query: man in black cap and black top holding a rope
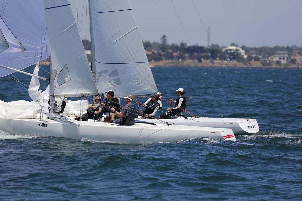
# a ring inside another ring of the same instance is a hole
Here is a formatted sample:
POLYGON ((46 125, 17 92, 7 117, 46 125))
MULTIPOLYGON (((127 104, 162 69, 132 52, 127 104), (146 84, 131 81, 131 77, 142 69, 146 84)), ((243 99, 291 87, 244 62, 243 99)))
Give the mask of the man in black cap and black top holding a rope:
MULTIPOLYGON (((101 103, 104 106, 104 112, 111 112, 111 108, 120 112, 120 104, 118 103, 118 99, 114 98, 114 92, 112 90, 106 91, 106 101, 105 103, 101 103)), ((114 120, 120 118, 119 116, 115 115, 115 113, 111 113, 111 115, 107 115, 104 118, 104 122, 113 122, 114 120)))

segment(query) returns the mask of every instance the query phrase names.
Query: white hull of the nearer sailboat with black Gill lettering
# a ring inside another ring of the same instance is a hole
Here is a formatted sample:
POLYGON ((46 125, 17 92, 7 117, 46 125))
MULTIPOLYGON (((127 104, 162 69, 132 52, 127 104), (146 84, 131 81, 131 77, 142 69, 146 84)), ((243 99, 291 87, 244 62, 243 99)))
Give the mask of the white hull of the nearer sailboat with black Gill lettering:
MULTIPOLYGON (((59 116, 60 117, 60 116, 59 116)), ((133 126, 101 122, 76 121, 71 117, 47 119, 6 119, 0 118, 0 130, 22 135, 54 136, 71 139, 91 139, 125 144, 149 144, 177 142, 185 139, 211 137, 233 140, 232 129, 208 128, 180 125, 150 125, 136 123, 133 126)))

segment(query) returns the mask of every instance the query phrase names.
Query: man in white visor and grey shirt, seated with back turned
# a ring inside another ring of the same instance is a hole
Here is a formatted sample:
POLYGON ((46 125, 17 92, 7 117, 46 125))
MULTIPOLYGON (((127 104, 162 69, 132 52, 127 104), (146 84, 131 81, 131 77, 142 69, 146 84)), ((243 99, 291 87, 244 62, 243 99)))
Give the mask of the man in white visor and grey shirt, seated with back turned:
POLYGON ((134 125, 134 118, 137 116, 136 107, 132 104, 134 97, 132 95, 128 95, 124 98, 126 99, 127 105, 125 105, 120 112, 114 108, 111 108, 111 111, 115 113, 116 116, 120 117, 120 119, 114 120, 114 123, 131 126, 134 125))

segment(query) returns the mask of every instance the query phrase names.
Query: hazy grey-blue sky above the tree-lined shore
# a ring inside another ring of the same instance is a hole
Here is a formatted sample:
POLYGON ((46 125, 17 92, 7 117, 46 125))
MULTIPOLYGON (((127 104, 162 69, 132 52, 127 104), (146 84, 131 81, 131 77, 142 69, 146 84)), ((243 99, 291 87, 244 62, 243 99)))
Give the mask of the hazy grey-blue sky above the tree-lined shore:
MULTIPOLYGON (((189 44, 171 0, 130 0, 130 2, 143 40, 160 41, 165 34, 168 43, 179 44, 183 40, 189 44)), ((206 29, 208 26, 211 27, 210 37, 214 44, 302 46, 302 0, 193 0, 193 2, 206 29)), ((85 22, 87 0, 71 0, 71 3, 76 21, 79 21, 82 39, 90 40, 89 18, 87 26, 85 22)), ((192 1, 173 0, 173 3, 191 44, 206 46, 206 31, 192 1)), ((89 11, 87 15, 88 13, 89 11)))

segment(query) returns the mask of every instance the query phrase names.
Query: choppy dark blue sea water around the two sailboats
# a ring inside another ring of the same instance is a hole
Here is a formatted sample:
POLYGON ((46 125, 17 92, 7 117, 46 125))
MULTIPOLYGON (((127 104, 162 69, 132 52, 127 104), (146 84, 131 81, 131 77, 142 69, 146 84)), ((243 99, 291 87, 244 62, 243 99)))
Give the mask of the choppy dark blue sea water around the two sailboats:
MULTIPOLYGON (((301 69, 225 69, 228 77, 222 68, 152 72, 166 99, 182 87, 192 113, 244 118, 245 110, 260 131, 236 142, 149 145, 0 131, 1 200, 301 200, 301 69)), ((27 76, 15 76, 29 85, 27 76)), ((26 86, 9 77, 0 83, 1 100, 30 101, 26 86)))

